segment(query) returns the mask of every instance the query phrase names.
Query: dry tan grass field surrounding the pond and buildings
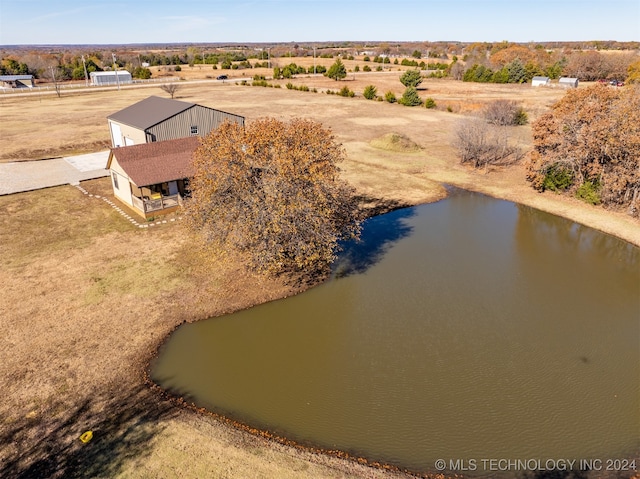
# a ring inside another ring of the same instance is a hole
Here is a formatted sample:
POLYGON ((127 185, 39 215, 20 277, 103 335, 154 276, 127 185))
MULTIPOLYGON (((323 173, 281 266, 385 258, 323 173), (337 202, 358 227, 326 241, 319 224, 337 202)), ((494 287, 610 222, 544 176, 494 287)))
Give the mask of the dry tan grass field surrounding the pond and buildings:
MULTIPOLYGON (((182 72, 185 78, 189 73, 182 72)), ((427 110, 361 97, 368 84, 375 84, 379 94, 391 90, 399 96, 403 87, 395 70, 350 74, 341 82, 304 75, 292 80, 319 91, 347 85, 360 95, 356 98, 240 86, 241 72, 229 74, 224 83, 196 82, 194 72, 193 80, 180 82, 177 99, 248 121, 274 116, 322 122, 348 153, 344 178, 371 205, 433 201, 443 195, 441 184, 449 183, 563 215, 640 245, 637 221, 572 198, 536 193, 519 165, 475 171, 457 161, 450 139, 460 118, 492 99, 507 98, 535 119, 563 95, 561 90, 426 80, 420 94, 439 106, 427 110), (372 146, 391 133, 420 149, 372 146)), ((65 91, 61 98, 0 96, 2 161, 104 148, 107 115, 149 95, 166 96, 157 85, 65 91)), ((525 146, 531 143, 529 127, 515 128, 514 136, 525 146)), ((112 197, 108 179, 83 186, 112 197)), ((295 286, 247 274, 240 258, 204 270, 180 221, 139 229, 72 186, 0 197, 0 212, 0 476, 409 477, 248 433, 177 407, 145 382, 157 348, 183 321, 294 294, 295 286), (83 444, 78 437, 88 429, 94 439, 83 444)))

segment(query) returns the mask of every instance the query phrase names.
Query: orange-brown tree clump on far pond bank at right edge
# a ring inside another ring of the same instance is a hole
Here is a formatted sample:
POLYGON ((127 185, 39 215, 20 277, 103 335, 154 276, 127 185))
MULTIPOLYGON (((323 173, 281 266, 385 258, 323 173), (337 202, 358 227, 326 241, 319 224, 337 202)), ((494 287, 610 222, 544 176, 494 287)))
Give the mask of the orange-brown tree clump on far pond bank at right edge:
POLYGON ((570 90, 533 124, 533 138, 534 188, 588 194, 640 216, 640 87, 570 90))

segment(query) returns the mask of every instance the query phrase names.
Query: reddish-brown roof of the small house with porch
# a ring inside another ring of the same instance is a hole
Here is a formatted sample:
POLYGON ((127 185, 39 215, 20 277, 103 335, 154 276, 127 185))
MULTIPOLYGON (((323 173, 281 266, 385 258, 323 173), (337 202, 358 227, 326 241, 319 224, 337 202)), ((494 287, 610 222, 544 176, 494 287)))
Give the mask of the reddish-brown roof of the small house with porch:
POLYGON ((113 157, 137 186, 150 186, 181 180, 194 174, 193 152, 200 145, 197 136, 111 148, 107 168, 113 157))

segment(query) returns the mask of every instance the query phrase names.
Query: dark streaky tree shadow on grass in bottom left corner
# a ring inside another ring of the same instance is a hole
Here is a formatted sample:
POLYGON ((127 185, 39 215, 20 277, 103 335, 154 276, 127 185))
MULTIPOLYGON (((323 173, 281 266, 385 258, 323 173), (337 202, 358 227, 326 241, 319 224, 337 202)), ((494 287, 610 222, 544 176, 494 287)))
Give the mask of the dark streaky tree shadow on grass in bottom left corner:
POLYGON ((119 397, 94 394, 69 407, 54 404, 55 417, 25 417, 0 429, 0 477, 113 477, 132 459, 149 454, 153 438, 164 428, 159 421, 177 410, 145 386, 119 397), (88 443, 80 435, 91 430, 88 443))

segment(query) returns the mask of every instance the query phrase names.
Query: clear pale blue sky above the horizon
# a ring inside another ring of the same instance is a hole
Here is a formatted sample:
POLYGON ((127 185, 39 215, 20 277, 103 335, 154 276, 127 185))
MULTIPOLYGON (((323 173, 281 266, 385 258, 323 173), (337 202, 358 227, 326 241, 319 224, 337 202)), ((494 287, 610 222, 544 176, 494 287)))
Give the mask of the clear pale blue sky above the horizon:
POLYGON ((640 40, 640 0, 0 0, 0 45, 640 40))

